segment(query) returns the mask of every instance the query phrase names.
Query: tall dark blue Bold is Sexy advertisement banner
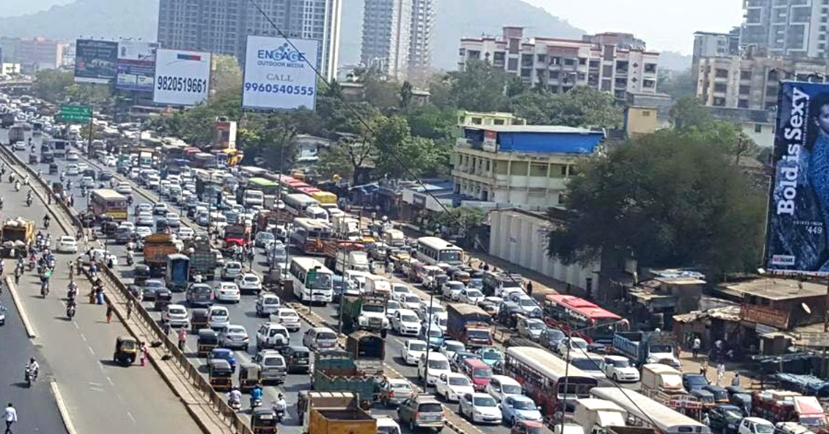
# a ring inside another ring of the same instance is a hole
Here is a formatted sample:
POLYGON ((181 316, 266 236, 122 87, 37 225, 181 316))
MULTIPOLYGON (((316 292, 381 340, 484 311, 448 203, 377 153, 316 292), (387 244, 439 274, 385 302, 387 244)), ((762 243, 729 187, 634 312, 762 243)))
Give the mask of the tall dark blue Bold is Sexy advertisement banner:
POLYGON ((765 266, 829 273, 829 84, 783 81, 778 95, 765 266))

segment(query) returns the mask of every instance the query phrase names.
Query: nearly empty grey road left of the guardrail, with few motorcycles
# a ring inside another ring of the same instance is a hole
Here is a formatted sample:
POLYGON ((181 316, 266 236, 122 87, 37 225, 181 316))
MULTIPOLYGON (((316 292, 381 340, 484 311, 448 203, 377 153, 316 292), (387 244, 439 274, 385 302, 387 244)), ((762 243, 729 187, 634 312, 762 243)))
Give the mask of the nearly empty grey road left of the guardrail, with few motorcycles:
MULTIPOLYGON (((0 130, 0 142, 7 143, 7 130, 0 130)), ((0 183, 4 198, 4 217, 22 216, 37 222, 46 209, 41 202, 32 207, 25 204, 27 188, 14 192, 12 184, 0 183)), ((57 239, 60 225, 49 227, 48 233, 57 239)), ((14 310, 10 297, 2 299, 8 306, 7 324, 0 328, 3 351, 0 351, 0 373, 11 382, 11 390, 0 388, 3 399, 15 403, 21 416, 21 432, 38 432, 33 425, 36 416, 39 432, 62 432, 63 424, 47 380, 54 378, 70 414, 76 432, 177 432, 196 434, 196 426, 185 408, 151 365, 123 368, 112 363, 116 336, 128 334, 116 319, 107 324, 104 308, 89 305, 80 298, 77 315, 69 321, 65 317, 65 288, 69 284, 68 261, 74 255, 57 256, 56 274, 51 278, 51 294, 40 295, 40 284, 34 272, 21 277, 17 293, 23 311, 35 330, 36 348, 28 342, 22 330, 20 316, 14 310), (42 382, 32 390, 21 388, 22 370, 29 355, 41 359, 42 382), (44 363, 46 362, 46 363, 44 363), (19 402, 19 403, 18 403, 19 402), (47 423, 57 423, 60 429, 47 423), (49 428, 49 429, 46 429, 49 428)), ((6 261, 6 270, 13 270, 12 261, 6 261)), ((90 291, 83 280, 80 294, 90 291)))

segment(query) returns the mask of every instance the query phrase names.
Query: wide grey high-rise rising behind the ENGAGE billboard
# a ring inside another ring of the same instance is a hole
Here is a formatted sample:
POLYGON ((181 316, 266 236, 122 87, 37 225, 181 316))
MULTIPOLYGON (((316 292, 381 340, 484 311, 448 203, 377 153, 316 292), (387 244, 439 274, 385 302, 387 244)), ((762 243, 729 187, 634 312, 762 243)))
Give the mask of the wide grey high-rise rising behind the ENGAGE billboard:
POLYGON ((342 0, 161 0, 158 43, 245 61, 248 35, 279 37, 273 21, 287 37, 319 41, 317 66, 332 79, 337 74, 341 14, 342 0))

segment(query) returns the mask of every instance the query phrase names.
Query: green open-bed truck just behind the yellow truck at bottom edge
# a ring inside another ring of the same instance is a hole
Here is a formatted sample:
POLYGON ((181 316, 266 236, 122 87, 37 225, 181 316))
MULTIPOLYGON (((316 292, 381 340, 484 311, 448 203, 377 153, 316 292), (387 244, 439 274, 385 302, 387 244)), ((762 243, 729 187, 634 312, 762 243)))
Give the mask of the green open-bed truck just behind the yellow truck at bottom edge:
POLYGON ((365 408, 374 401, 374 375, 357 369, 351 354, 342 350, 316 354, 311 382, 318 392, 354 392, 365 408))

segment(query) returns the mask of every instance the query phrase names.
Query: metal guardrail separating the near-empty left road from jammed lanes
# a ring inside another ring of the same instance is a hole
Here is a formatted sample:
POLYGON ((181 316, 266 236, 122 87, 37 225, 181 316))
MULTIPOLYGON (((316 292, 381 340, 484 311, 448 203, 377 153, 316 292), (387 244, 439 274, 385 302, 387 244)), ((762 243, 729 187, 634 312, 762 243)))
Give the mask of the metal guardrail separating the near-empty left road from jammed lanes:
MULTIPOLYGON (((28 167, 25 163, 23 163, 20 158, 17 158, 17 155, 9 152, 9 150, 5 147, 0 145, 0 152, 5 154, 7 158, 10 158, 12 162, 15 163, 17 166, 21 166, 24 168, 28 173, 30 173, 31 178, 34 179, 36 183, 40 184, 40 187, 43 188, 46 194, 50 193, 50 188, 46 184, 46 182, 42 179, 37 177, 36 172, 32 170, 32 168, 28 167)), ((64 216, 70 217, 70 225, 72 227, 81 227, 80 219, 78 218, 77 212, 75 209, 67 207, 63 202, 57 202, 57 206, 61 208, 64 216)), ((56 215, 58 213, 53 212, 56 215)), ((65 228, 69 229, 69 228, 65 228)), ((124 285, 121 280, 117 276, 115 276, 114 272, 110 270, 106 266, 101 266, 99 274, 103 274, 104 276, 104 283, 109 284, 109 286, 114 287, 115 290, 119 291, 119 294, 125 297, 128 300, 133 300, 133 305, 137 306, 133 312, 138 313, 138 318, 143 322, 143 326, 145 329, 148 329, 151 333, 155 335, 155 338, 164 345, 164 349, 166 350, 167 354, 175 360, 176 364, 180 371, 184 374, 184 377, 191 383, 191 385, 196 387, 196 392, 201 393, 202 397, 206 397, 207 401, 211 403, 213 410, 221 417, 222 421, 225 422, 227 427, 235 430, 238 434, 253 434, 253 431, 250 427, 245 423, 245 420, 242 419, 235 410, 233 410, 222 396, 216 392, 215 389, 206 381, 206 379, 198 372, 198 369, 193 366, 193 363, 187 359, 187 356, 182 353, 175 342, 170 339, 167 334, 158 326, 158 323, 155 319, 150 315, 148 310, 144 308, 144 306, 138 302, 138 299, 128 290, 127 286, 124 285)), ((87 274, 87 278, 90 278, 87 274)))

